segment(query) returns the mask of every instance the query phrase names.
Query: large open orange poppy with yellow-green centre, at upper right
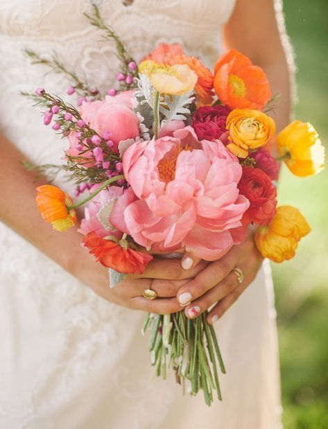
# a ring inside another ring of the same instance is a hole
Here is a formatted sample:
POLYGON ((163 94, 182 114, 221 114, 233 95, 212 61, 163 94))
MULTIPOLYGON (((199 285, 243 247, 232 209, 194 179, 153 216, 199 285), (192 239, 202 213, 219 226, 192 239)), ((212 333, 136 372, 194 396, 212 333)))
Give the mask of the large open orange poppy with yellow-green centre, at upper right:
POLYGON ((234 108, 263 109, 271 97, 270 85, 261 67, 235 49, 218 58, 214 89, 221 103, 234 108))

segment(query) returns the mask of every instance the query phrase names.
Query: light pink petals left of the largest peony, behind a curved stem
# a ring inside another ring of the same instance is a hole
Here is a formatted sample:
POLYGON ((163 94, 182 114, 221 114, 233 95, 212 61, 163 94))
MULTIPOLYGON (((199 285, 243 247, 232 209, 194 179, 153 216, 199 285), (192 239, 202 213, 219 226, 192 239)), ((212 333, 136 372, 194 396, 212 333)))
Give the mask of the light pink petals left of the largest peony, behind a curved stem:
MULTIPOLYGON (((93 187, 91 191, 94 191, 94 189, 96 188, 93 187)), ((85 208, 85 217, 81 220, 80 229, 78 229, 78 231, 83 235, 87 235, 89 232, 95 232, 100 238, 104 238, 109 235, 121 238, 121 231, 111 229, 109 214, 106 216, 106 210, 104 207, 108 206, 108 212, 110 212, 110 202, 112 202, 113 205, 116 198, 121 197, 122 193, 123 189, 119 188, 119 186, 110 186, 108 190, 103 189, 103 191, 98 193, 98 195, 96 195, 96 197, 94 197, 85 208), (99 220, 99 217, 101 217, 101 213, 99 213, 101 212, 101 209, 104 209, 104 223, 99 220), (105 227, 106 219, 107 227, 105 227)))

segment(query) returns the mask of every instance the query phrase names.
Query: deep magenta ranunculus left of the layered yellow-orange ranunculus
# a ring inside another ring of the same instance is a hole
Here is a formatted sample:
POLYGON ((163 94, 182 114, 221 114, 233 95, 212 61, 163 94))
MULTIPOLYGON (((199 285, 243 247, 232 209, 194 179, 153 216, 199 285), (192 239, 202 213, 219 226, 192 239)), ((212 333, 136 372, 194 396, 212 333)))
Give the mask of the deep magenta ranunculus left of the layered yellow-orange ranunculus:
POLYGON ((193 114, 191 125, 198 139, 214 140, 220 139, 226 132, 225 123, 230 109, 223 105, 202 106, 193 114))

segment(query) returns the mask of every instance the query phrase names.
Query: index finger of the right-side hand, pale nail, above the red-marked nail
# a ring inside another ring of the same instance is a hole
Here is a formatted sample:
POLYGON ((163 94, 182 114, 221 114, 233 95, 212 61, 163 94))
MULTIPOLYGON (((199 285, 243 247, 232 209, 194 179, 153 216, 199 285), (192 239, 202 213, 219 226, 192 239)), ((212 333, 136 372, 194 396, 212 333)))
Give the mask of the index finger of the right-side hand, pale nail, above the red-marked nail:
POLYGON ((204 295, 207 290, 212 289, 216 284, 225 279, 235 266, 236 257, 231 254, 226 254, 221 259, 218 259, 218 261, 210 263, 195 279, 189 281, 189 283, 178 290, 180 305, 186 306, 194 299, 204 295))

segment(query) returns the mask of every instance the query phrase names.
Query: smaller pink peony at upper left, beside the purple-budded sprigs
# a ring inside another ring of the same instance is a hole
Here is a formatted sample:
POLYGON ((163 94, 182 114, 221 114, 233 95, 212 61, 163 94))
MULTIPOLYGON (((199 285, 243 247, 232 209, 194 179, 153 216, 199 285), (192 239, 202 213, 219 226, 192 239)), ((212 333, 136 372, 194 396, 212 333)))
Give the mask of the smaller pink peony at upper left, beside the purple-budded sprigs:
POLYGON ((132 91, 92 103, 83 102, 80 115, 102 137, 111 133, 116 150, 121 140, 139 136, 139 119, 132 111, 132 91))

